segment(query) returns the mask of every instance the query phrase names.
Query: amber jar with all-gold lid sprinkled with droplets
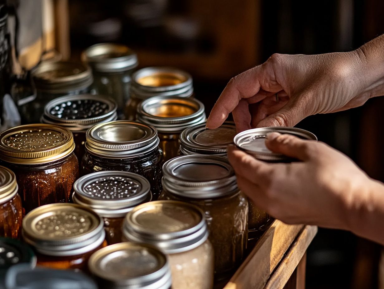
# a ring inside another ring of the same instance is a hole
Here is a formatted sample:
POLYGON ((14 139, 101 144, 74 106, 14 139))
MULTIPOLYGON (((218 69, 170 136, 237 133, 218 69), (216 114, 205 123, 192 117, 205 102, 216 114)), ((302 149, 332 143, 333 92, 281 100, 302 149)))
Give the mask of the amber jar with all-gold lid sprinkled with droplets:
POLYGON ((73 135, 50 124, 28 124, 0 134, 0 160, 16 175, 25 212, 68 202, 79 175, 73 135))

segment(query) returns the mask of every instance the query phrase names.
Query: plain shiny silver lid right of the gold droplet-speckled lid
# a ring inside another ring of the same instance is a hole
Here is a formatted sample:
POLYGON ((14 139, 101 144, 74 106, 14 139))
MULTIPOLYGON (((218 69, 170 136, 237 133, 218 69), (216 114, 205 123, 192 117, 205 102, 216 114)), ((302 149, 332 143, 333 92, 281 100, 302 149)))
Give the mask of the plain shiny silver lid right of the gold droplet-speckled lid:
POLYGON ((102 157, 137 157, 158 145, 157 130, 136 121, 105 122, 86 132, 86 150, 102 157))

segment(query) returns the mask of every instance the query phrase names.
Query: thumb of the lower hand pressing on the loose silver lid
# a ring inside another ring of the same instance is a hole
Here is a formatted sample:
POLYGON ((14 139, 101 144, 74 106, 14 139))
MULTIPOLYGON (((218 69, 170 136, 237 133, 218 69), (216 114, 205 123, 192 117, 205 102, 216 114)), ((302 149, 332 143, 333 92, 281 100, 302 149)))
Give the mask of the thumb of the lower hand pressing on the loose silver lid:
POLYGON ((265 145, 272 152, 283 154, 299 160, 308 160, 311 157, 313 140, 303 140, 290 134, 271 132, 266 135, 265 145))

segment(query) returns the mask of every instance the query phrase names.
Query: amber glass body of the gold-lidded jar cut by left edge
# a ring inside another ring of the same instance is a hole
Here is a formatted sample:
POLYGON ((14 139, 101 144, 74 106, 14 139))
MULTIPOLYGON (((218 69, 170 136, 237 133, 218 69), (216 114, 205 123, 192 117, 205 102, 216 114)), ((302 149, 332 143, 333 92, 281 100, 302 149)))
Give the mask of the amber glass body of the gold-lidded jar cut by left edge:
POLYGON ((0 204, 0 236, 18 239, 21 236, 23 207, 20 195, 0 204))

